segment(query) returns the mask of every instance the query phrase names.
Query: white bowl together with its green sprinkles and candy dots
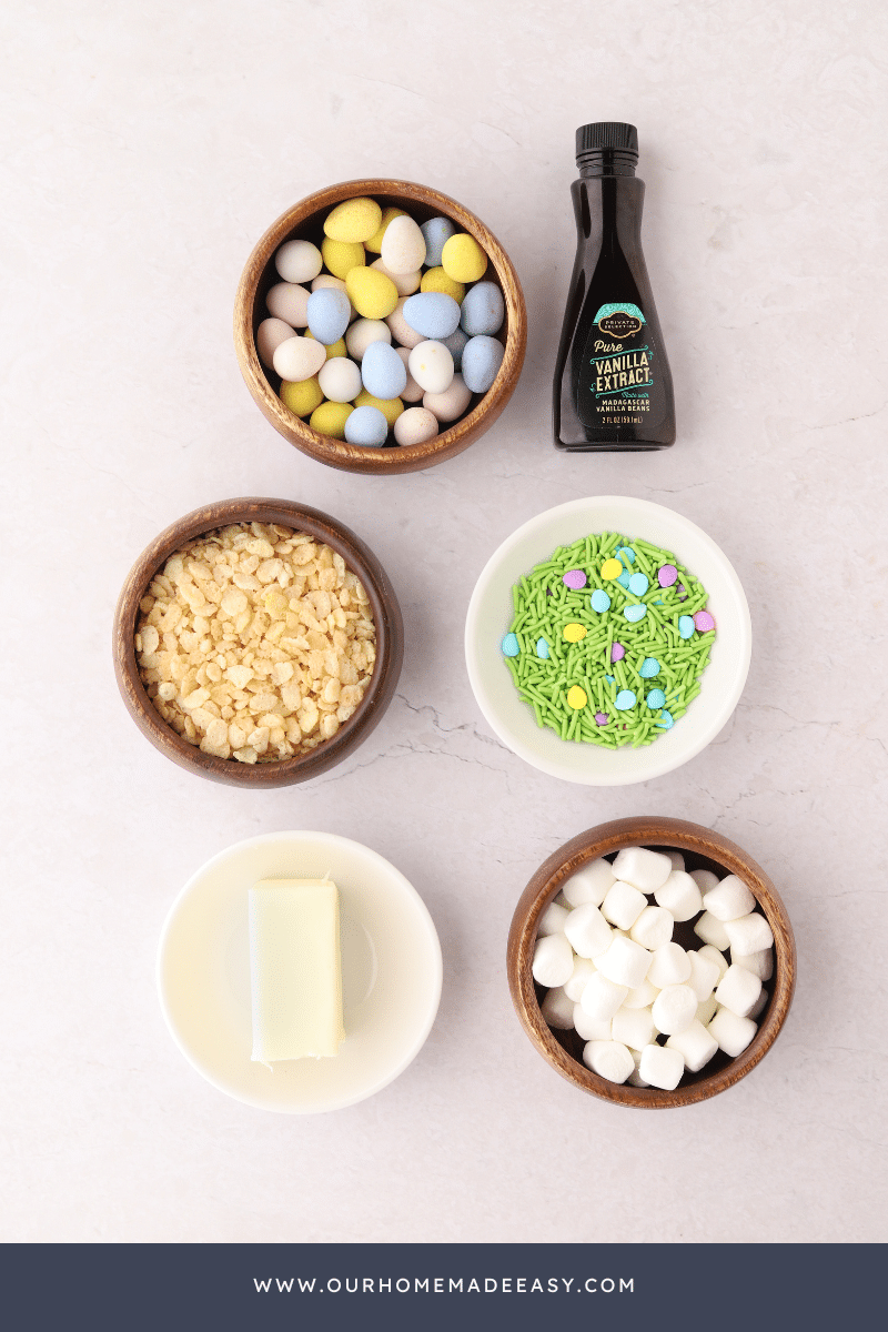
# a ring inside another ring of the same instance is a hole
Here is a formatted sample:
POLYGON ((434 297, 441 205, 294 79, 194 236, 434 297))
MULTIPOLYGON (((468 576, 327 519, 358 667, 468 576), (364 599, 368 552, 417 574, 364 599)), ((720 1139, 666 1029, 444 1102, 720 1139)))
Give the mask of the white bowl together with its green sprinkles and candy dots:
POLYGON ((466 666, 489 725, 551 777, 624 786, 718 735, 752 650, 746 594, 700 527, 596 496, 531 518, 485 566, 466 666))

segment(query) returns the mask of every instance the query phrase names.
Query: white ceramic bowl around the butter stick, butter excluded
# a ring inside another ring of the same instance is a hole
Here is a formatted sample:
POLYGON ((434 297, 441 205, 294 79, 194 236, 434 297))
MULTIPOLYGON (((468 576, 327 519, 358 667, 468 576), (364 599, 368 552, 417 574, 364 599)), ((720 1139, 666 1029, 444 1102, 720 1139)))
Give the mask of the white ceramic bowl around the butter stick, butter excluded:
POLYGON ((403 1072, 431 1030, 441 979, 419 894, 375 851, 332 832, 270 832, 213 856, 173 903, 157 954, 161 1008, 188 1062, 236 1100, 292 1115, 351 1106, 403 1072), (272 1071, 250 1059, 248 888, 325 874, 339 888, 346 1038, 334 1059, 272 1071))

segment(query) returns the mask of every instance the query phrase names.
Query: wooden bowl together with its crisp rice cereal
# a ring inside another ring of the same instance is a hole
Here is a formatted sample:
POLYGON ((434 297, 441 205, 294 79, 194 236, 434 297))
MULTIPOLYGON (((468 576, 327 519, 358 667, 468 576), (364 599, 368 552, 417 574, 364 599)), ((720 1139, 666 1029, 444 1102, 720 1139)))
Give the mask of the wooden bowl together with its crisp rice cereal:
POLYGON ((113 630, 124 703, 180 767, 232 786, 290 786, 374 729, 403 627, 373 551, 286 500, 225 500, 166 527, 124 583, 113 630))

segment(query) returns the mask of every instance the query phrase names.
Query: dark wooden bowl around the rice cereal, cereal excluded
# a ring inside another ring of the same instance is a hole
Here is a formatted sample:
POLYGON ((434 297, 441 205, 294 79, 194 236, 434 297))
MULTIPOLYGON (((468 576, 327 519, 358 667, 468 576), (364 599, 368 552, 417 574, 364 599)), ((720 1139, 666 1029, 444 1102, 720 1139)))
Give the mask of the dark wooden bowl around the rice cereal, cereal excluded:
POLYGON ((198 773, 212 782, 229 786, 270 787, 293 786, 306 782, 339 763, 361 745, 374 729, 391 697, 401 674, 403 658, 403 625, 401 607, 387 574, 373 551, 359 537, 329 514, 308 505, 288 500, 224 500, 204 505, 172 523, 152 541, 138 557, 124 583, 113 631, 114 675, 129 715, 152 745, 172 758, 173 763, 198 773), (197 537, 216 527, 237 522, 277 522, 332 546, 358 575, 373 607, 377 630, 377 657, 373 675, 358 707, 343 722, 335 735, 324 741, 309 754, 296 755, 270 763, 238 763, 236 759, 214 758, 182 739, 154 710, 138 674, 136 663, 136 619, 138 603, 152 578, 169 557, 197 537))

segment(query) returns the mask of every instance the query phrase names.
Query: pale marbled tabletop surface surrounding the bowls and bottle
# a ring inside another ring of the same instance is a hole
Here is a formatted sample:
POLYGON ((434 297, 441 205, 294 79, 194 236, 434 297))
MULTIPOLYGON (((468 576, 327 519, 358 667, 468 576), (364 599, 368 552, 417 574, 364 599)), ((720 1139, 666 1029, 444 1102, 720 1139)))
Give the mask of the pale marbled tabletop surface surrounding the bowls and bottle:
POLYGON ((5 1240, 884 1240, 885 16, 876 0, 158 0, 0 17, 5 1240), (575 234, 574 129, 639 128, 644 246, 679 441, 566 457, 550 378, 575 234), (462 457, 333 472, 264 421, 237 280, 286 206, 402 176, 477 212, 525 286, 525 372, 462 457), (237 494, 353 526, 405 614, 398 697, 304 787, 174 769, 114 689, 121 582, 237 494), (754 621, 735 717, 684 769, 588 790, 491 735, 462 626, 494 547, 579 494, 671 505, 754 621), (678 1112, 610 1107, 535 1054, 505 982, 515 900, 562 842, 659 813, 772 875, 799 987, 764 1063, 678 1112), (221 847, 321 829, 435 919, 433 1034, 375 1099, 280 1118, 216 1092, 164 1027, 169 904, 221 847))

